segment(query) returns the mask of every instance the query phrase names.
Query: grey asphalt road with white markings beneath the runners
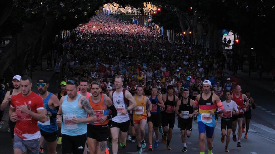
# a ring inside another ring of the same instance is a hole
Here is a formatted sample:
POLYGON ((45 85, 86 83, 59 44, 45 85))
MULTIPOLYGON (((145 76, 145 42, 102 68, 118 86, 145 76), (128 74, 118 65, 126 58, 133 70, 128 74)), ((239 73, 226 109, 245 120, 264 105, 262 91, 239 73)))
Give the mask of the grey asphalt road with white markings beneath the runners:
MULTIPOLYGON (((226 79, 227 76, 224 76, 226 79)), ((265 90, 264 88, 258 88, 254 86, 254 84, 247 83, 244 80, 231 77, 231 81, 235 84, 241 84, 242 92, 249 90, 251 92, 251 97, 254 98, 256 109, 252 110, 252 120, 250 122, 250 129, 248 133, 248 139, 244 139, 244 134, 242 135, 241 145, 242 147, 237 147, 237 142, 231 140, 229 143, 230 153, 234 154, 266 154, 266 153, 274 153, 275 151, 275 105, 274 105, 274 96, 270 91, 265 90)), ((56 80, 52 80, 52 85, 56 80)), ((50 86, 51 87, 51 86, 50 86)), ((56 92, 56 86, 53 86, 49 89, 49 91, 56 92)), ((224 98, 222 99, 224 100, 224 98)), ((171 151, 166 150, 166 144, 163 144, 160 140, 159 147, 154 149, 154 151, 148 151, 148 133, 145 135, 145 141, 147 143, 146 149, 143 150, 144 154, 148 153, 199 153, 199 140, 198 140, 198 128, 197 121, 193 122, 193 129, 190 138, 187 138, 187 152, 182 152, 183 143, 181 141, 181 133, 180 129, 178 129, 176 121, 175 127, 173 130, 173 138, 170 142, 170 146, 172 148, 171 151)), ((148 126, 146 125, 146 132, 148 132, 148 126)), ((12 153, 12 142, 10 139, 9 132, 1 132, 0 133, 0 153, 1 154, 9 154, 12 153)), ((220 119, 218 120, 217 127, 215 128, 215 139, 213 142, 214 149, 213 153, 226 153, 224 152, 225 143, 220 141, 221 138, 221 130, 220 130, 220 119)), ((161 135, 160 135, 161 139, 161 135)), ((154 144, 154 139, 153 139, 154 144)), ((110 150, 110 153, 112 150, 110 150)), ((61 146, 58 145, 57 152, 61 152, 61 146)), ((205 150, 207 153, 207 149, 205 150)), ((47 149, 45 149, 45 153, 47 153, 47 149)), ((119 147, 119 153, 129 153, 135 154, 136 152, 136 143, 132 143, 127 141, 126 149, 122 149, 119 147)))

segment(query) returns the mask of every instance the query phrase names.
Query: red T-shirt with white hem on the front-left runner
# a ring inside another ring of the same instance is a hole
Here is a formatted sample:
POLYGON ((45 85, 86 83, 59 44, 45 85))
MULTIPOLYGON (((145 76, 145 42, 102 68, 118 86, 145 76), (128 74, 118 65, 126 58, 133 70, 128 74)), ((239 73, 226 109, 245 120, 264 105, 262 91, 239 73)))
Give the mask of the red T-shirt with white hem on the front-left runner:
POLYGON ((17 114, 17 121, 14 128, 14 134, 24 140, 33 140, 40 138, 40 129, 37 125, 37 120, 32 118, 29 114, 22 113, 17 109, 20 105, 27 105, 28 109, 34 113, 37 110, 44 109, 44 103, 40 96, 31 92, 29 96, 22 96, 22 93, 12 96, 11 108, 15 109, 17 114))

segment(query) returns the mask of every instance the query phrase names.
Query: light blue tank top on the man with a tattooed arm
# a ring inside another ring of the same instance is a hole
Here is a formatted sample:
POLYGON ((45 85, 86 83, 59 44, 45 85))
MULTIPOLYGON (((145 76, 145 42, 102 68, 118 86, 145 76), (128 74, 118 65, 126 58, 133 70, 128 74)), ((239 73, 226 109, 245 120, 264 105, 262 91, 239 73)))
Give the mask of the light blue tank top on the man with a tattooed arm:
POLYGON ((75 124, 72 122, 74 117, 86 118, 87 112, 84 109, 79 108, 78 100, 82 96, 78 94, 77 98, 73 102, 68 101, 68 95, 65 96, 61 105, 63 111, 63 122, 61 126, 61 133, 69 136, 78 136, 87 133, 87 123, 75 124))

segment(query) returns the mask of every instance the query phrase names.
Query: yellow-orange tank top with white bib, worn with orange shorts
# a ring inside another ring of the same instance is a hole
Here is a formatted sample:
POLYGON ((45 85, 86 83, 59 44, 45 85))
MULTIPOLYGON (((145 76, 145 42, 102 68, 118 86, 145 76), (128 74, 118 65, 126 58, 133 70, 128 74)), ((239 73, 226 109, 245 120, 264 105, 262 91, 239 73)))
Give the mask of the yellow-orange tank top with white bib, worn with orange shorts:
POLYGON ((137 106, 135 107, 133 118, 134 120, 140 120, 142 118, 147 118, 146 113, 146 102, 144 102, 145 96, 142 97, 141 101, 138 101, 137 95, 135 96, 135 101, 137 103, 137 106))

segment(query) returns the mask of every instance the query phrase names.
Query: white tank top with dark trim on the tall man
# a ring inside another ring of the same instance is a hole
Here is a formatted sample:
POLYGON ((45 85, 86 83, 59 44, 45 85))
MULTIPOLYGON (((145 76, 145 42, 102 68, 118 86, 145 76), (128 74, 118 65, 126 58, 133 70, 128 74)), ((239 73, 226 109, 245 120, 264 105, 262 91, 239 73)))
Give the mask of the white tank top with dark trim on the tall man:
POLYGON ((123 91, 121 91, 119 94, 116 91, 114 91, 113 103, 118 111, 118 115, 112 118, 112 121, 116 123, 123 123, 130 120, 128 112, 125 115, 121 115, 121 112, 127 108, 127 105, 124 102, 123 91))

